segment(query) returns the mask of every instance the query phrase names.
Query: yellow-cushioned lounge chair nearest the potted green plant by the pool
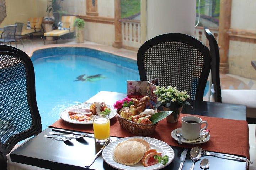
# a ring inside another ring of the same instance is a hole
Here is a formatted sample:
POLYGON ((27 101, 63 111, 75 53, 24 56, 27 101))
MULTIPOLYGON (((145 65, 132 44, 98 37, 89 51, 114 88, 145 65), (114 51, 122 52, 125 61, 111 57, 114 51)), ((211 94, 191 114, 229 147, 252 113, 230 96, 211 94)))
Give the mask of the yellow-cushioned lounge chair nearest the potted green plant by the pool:
MULTIPOLYGON (((45 37, 57 37, 60 38, 61 36, 64 35, 71 35, 74 33, 74 21, 75 21, 75 16, 62 16, 61 22, 62 22, 62 29, 55 29, 49 32, 44 33, 44 39, 45 37)), ((43 40, 44 40, 43 39, 43 40)), ((44 42, 45 44, 45 42, 44 42)))

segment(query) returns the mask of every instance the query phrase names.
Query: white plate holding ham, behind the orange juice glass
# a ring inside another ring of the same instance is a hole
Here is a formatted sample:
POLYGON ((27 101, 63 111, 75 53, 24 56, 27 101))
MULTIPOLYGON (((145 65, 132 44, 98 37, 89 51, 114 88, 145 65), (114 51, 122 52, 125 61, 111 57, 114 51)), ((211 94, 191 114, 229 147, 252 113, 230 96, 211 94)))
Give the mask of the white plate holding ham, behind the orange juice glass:
MULTIPOLYGON (((82 121, 77 121, 74 119, 70 119, 68 112, 71 109, 81 109, 81 108, 90 108, 92 103, 81 103, 81 104, 76 104, 73 106, 70 106, 66 109, 64 109, 61 113, 60 113, 60 118, 66 122, 69 123, 74 123, 74 124, 92 124, 92 120, 89 120, 87 122, 82 122, 82 121)), ((116 115, 116 109, 114 109, 113 106, 110 106, 108 104, 106 104, 108 108, 110 108, 110 119, 112 119, 115 115, 116 115)))

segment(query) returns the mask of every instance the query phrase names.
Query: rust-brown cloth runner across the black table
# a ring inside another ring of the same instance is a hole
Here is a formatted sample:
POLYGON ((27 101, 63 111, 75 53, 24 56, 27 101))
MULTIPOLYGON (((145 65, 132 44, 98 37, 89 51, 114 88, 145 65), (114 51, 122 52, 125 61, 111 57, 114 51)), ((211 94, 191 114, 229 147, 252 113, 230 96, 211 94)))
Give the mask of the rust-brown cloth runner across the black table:
MULTIPOLYGON (((177 123, 168 123, 166 119, 159 121, 155 132, 147 137, 152 137, 166 142, 170 146, 193 148, 200 146, 207 151, 220 152, 232 155, 249 156, 249 129, 247 121, 198 116, 208 122, 207 129, 210 131, 210 140, 199 145, 178 144, 178 141, 171 137, 171 132, 181 127, 181 118, 189 114, 181 114, 177 123)), ((75 130, 93 133, 91 125, 72 124, 59 119, 49 127, 75 130)), ((131 137, 135 136, 121 127, 116 117, 110 121, 110 136, 131 137)))

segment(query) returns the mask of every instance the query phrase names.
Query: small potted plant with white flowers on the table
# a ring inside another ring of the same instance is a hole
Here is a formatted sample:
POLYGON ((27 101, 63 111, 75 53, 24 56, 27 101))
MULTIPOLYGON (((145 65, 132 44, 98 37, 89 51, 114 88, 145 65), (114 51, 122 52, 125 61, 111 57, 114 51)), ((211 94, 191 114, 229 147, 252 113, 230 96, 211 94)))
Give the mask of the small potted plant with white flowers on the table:
POLYGON ((153 93, 158 97, 156 109, 159 106, 162 106, 164 111, 173 111, 173 113, 166 118, 167 121, 172 123, 178 121, 182 108, 185 108, 185 105, 190 105, 190 103, 186 101, 188 98, 190 98, 187 91, 179 91, 177 87, 168 86, 165 88, 164 86, 156 86, 156 90, 153 91, 153 93))

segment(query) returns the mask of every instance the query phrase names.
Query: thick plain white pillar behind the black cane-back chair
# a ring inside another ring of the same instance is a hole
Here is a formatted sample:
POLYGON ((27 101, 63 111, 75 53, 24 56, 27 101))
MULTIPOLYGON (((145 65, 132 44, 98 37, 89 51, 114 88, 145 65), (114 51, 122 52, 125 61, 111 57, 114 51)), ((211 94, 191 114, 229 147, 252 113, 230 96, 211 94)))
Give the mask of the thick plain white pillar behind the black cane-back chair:
POLYGON ((147 0, 146 9, 147 40, 165 33, 194 36, 196 0, 147 0))

